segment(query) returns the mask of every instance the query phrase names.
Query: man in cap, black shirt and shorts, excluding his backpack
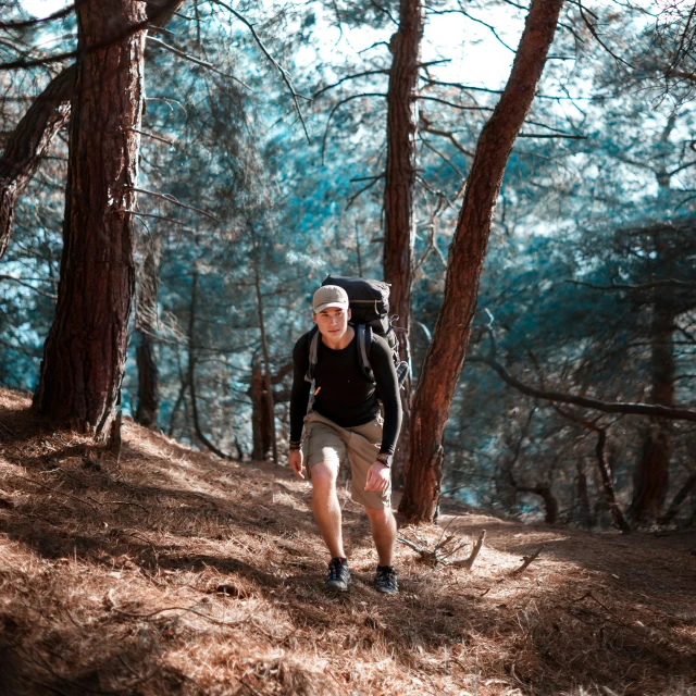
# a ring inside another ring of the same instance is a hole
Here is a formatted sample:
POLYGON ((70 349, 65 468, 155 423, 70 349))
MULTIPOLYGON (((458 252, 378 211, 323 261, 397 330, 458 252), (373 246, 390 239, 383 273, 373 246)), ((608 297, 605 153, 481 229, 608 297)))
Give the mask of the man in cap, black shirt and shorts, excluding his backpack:
POLYGON ((381 336, 373 336, 369 347, 374 381, 365 375, 360 356, 363 346, 348 323, 350 315, 348 295, 341 287, 325 285, 314 293, 312 319, 316 328, 304 334, 293 350, 289 464, 301 478, 307 471, 312 482, 314 519, 332 557, 326 587, 345 592, 350 571, 344 552, 336 478, 340 463, 350 462, 351 497, 370 518, 380 558, 375 587, 394 594, 398 592, 391 567, 396 520, 389 467, 401 426, 399 386, 391 350, 381 336), (311 386, 306 375, 316 331, 313 402, 307 413, 311 386))

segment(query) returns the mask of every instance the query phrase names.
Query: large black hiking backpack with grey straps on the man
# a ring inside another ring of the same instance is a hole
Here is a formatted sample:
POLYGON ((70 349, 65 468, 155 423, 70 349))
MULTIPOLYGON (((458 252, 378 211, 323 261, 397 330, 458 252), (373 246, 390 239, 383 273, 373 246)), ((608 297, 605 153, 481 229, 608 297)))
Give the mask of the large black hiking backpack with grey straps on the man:
MULTIPOLYGON (((323 285, 338 285, 346 290, 350 302, 350 323, 356 330, 358 339, 358 357, 363 374, 374 382, 374 373, 370 363, 370 349, 373 335, 382 336, 389 348, 396 369, 399 387, 409 374, 409 365, 399 357, 399 341, 394 331, 396 314, 389 316, 389 286, 382 281, 368 278, 349 278, 340 275, 327 275, 323 285)), ((319 350, 319 331, 315 330, 309 344, 309 370, 304 380, 313 382, 319 350)))

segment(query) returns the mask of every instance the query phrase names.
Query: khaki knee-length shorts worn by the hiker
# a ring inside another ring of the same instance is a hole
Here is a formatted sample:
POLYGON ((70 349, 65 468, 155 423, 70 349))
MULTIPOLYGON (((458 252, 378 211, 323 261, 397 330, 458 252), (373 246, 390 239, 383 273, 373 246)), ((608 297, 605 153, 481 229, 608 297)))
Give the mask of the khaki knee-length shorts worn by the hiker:
POLYGON ((306 415, 302 432, 302 456, 309 477, 312 477, 312 467, 319 462, 327 461, 339 467, 348 460, 352 474, 350 497, 365 508, 390 509, 390 483, 384 493, 364 489, 368 471, 374 464, 382 447, 383 423, 384 419, 377 415, 364 425, 340 427, 313 411, 306 415))

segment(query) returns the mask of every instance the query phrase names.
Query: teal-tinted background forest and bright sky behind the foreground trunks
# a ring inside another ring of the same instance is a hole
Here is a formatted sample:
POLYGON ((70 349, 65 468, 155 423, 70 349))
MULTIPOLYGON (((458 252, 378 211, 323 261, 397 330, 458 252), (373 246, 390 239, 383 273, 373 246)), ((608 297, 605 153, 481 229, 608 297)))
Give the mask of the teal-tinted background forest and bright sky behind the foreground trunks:
MULTIPOLYGON (((419 9, 413 390, 526 4, 419 9)), ((70 108, 55 85, 77 23, 60 4, 2 5, 0 384, 34 391, 69 181, 70 108), (46 130, 27 117, 41 103, 52 104, 46 130), (17 184, 17 142, 32 138, 36 161, 17 184)), ((124 414, 223 457, 284 461, 290 352, 311 326, 311 294, 328 273, 394 273, 387 90, 408 7, 189 0, 165 3, 166 22, 151 16, 124 414)), ((584 527, 696 523, 693 14, 689 3, 563 3, 497 195, 443 494, 584 527)))

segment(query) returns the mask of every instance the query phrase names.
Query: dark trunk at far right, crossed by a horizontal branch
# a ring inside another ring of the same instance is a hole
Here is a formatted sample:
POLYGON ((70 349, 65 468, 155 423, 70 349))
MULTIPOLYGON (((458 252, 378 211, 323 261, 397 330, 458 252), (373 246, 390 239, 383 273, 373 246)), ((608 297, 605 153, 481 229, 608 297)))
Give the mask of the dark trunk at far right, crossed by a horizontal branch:
MULTIPOLYGON (((663 289, 656 294, 652 308, 650 401, 661 406, 674 403, 674 303, 663 289)), ((634 523, 654 522, 660 517, 669 488, 672 457, 672 423, 650 419, 633 480, 633 500, 629 514, 634 523)))

